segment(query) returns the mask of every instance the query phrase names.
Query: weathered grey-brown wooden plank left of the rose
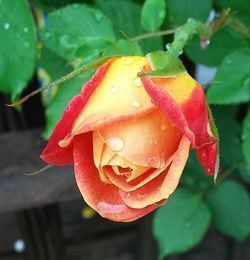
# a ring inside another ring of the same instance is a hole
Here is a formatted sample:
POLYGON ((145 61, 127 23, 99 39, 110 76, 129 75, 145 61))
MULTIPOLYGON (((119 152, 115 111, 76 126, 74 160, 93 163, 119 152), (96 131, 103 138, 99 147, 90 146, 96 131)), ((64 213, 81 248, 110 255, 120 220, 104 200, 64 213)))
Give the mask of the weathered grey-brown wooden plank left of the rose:
POLYGON ((0 213, 81 197, 72 166, 23 174, 44 166, 39 154, 46 142, 40 130, 2 134, 0 144, 0 213))

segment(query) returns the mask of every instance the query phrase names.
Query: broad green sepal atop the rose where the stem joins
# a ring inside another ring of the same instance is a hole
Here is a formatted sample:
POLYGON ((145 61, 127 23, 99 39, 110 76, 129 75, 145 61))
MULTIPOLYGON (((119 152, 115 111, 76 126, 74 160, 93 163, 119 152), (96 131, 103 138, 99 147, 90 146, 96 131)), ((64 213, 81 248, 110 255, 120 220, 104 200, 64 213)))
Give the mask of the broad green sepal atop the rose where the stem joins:
POLYGON ((165 52, 155 51, 146 55, 153 71, 149 73, 139 73, 138 76, 151 76, 151 77, 176 77, 180 73, 186 72, 186 68, 181 60, 176 56, 165 52))

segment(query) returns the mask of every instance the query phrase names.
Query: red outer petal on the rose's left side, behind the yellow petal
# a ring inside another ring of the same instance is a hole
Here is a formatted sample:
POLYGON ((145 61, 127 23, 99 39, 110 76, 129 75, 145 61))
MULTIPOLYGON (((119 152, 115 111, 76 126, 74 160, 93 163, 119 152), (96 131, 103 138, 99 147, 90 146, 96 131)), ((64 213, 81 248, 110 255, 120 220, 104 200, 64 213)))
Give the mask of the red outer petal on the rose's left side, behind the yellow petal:
POLYGON ((41 154, 41 158, 51 164, 55 165, 66 165, 73 163, 72 155, 72 144, 68 147, 62 148, 58 145, 59 141, 62 140, 71 130, 72 124, 79 116, 79 113, 85 107, 90 96, 95 91, 96 87, 103 79, 105 72, 107 71, 110 62, 102 65, 82 88, 80 95, 75 96, 64 110, 61 120, 56 124, 52 135, 50 136, 49 142, 46 148, 41 154))

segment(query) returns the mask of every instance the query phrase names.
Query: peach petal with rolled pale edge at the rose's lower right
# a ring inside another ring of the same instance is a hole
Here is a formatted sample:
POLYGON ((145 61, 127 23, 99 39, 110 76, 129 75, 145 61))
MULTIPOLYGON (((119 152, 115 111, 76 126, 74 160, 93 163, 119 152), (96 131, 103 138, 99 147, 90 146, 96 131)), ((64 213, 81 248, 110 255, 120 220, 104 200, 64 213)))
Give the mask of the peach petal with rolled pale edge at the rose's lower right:
POLYGON ((120 195, 126 205, 144 208, 163 199, 168 199, 179 183, 189 155, 189 148, 190 141, 183 136, 174 159, 165 172, 135 191, 124 192, 120 190, 120 195))

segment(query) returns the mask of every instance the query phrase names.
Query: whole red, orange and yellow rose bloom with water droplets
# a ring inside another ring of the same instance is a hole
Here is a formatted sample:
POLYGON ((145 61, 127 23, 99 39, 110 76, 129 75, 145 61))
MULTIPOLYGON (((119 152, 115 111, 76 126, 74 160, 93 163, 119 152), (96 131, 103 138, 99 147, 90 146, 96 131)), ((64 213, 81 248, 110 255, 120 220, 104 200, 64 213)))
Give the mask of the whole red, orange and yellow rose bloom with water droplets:
POLYGON ((86 203, 105 218, 133 221, 164 204, 176 189, 190 148, 205 171, 216 165, 201 86, 187 72, 137 77, 146 57, 112 58, 63 112, 41 158, 74 165, 86 203))

